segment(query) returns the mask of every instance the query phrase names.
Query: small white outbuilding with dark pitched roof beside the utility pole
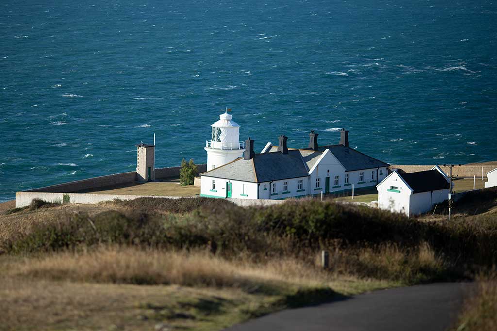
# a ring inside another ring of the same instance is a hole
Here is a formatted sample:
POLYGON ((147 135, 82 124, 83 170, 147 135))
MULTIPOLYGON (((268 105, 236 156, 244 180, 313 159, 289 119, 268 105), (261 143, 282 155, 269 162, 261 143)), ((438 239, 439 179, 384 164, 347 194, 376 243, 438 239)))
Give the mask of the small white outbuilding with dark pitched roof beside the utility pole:
POLYGON ((376 188, 378 208, 413 216, 449 199, 450 181, 442 169, 435 166, 411 173, 394 170, 376 188))

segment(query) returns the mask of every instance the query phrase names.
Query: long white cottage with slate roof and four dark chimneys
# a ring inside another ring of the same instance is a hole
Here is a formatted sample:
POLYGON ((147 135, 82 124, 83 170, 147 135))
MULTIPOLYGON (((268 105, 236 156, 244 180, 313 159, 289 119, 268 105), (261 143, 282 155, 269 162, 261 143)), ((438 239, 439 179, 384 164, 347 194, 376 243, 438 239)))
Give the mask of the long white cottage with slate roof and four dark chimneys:
POLYGON ((308 148, 291 149, 288 138, 280 135, 277 147, 268 143, 258 154, 248 138, 243 157, 200 174, 200 195, 286 199, 340 193, 352 190, 352 184, 356 190, 374 188, 387 176, 389 164, 349 147, 348 131, 342 129, 338 145, 319 146, 315 132, 309 137, 308 148))

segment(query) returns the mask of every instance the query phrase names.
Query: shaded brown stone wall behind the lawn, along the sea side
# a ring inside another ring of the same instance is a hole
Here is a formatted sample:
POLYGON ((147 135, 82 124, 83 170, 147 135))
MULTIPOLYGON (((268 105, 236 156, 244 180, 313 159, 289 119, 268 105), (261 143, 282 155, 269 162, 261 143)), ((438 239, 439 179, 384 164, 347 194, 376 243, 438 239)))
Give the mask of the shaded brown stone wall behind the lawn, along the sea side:
MULTIPOLYGON (((204 172, 207 164, 197 164, 198 172, 204 172)), ((179 177, 179 167, 156 168, 156 179, 179 177)), ((23 192, 43 192, 43 193, 74 193, 84 190, 97 189, 119 184, 132 183, 137 180, 136 171, 123 172, 107 176, 93 177, 74 182, 45 186, 42 188, 27 190, 23 192)))

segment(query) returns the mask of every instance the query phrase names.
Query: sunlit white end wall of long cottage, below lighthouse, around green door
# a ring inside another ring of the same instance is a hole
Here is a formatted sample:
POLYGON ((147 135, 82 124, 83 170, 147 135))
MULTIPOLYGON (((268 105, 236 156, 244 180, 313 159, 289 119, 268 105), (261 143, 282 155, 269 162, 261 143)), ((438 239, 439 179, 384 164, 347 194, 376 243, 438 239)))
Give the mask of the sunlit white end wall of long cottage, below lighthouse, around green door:
POLYGON ((221 178, 201 176, 200 195, 207 197, 226 198, 226 183, 231 183, 231 197, 234 199, 257 199, 257 183, 233 181, 221 178), (212 181, 216 187, 212 190, 212 181), (242 184, 245 190, 242 192, 242 184), (244 194, 244 195, 242 195, 244 194))

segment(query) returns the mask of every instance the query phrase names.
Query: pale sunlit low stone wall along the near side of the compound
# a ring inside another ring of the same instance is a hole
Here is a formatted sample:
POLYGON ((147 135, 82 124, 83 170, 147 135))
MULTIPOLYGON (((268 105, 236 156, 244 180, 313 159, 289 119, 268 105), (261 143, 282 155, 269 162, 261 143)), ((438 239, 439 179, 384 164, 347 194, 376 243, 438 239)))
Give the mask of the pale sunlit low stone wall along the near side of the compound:
MULTIPOLYGON (((132 195, 110 195, 110 194, 91 194, 91 193, 49 193, 49 192, 17 192, 15 194, 15 207, 21 208, 29 205, 32 199, 42 199, 47 202, 62 202, 64 196, 68 195, 71 203, 98 203, 103 201, 112 201, 114 199, 133 200, 137 198, 158 198, 158 199, 197 199, 196 197, 158 197, 158 196, 132 196, 132 195)), ((284 200, 266 200, 266 199, 228 199, 239 206, 267 206, 272 204, 283 203, 284 200)))

